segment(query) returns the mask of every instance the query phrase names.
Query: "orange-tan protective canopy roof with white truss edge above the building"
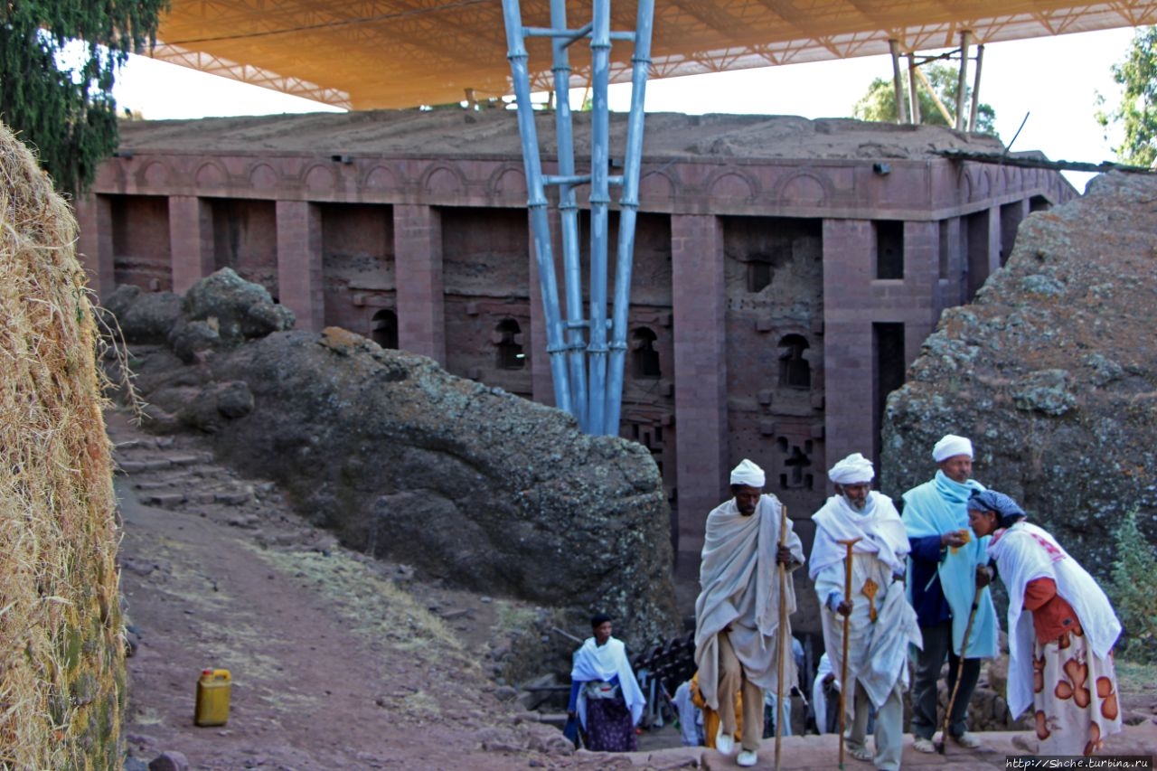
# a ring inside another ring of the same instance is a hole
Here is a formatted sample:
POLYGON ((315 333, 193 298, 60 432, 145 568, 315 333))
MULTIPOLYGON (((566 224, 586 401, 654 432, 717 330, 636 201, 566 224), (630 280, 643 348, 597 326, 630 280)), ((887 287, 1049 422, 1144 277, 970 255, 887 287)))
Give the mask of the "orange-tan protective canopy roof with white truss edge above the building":
MULTIPOLYGON (((635 5, 611 5, 612 31, 635 29, 635 5)), ((568 0, 569 27, 590 21, 568 0)), ((523 24, 550 25, 546 0, 523 24)), ((1157 23, 1157 0, 656 0, 653 78, 1157 23)), ((550 42, 528 43, 537 89, 551 83, 550 42)), ((617 42, 611 79, 629 80, 633 46, 617 42)), ((501 0, 172 0, 154 58, 364 110, 508 94, 501 0)), ((1074 51, 1074 56, 1079 56, 1074 51)), ((590 49, 572 46, 572 83, 590 49)), ((1047 67, 1047 63, 1041 63, 1047 67)))

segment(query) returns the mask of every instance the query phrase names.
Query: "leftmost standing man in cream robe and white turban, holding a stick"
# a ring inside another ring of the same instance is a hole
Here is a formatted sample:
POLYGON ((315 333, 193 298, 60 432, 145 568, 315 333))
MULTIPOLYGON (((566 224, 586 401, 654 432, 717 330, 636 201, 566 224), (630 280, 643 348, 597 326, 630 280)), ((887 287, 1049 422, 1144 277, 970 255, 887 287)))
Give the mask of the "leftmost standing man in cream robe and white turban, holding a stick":
MULTIPOLYGON (((735 749, 736 692, 743 695, 742 751, 736 762, 757 762, 764 725, 764 689, 779 682, 780 603, 795 612, 795 588, 786 582, 780 596, 776 565, 793 571, 804 563, 803 544, 774 495, 764 494, 762 469, 744 460, 731 471, 731 500, 707 515, 695 601, 695 663, 699 688, 707 705, 718 712, 715 749, 735 749), (787 538, 780 543, 781 528, 787 538), (720 705, 724 705, 723 708, 720 705)), ((790 626, 782 639, 790 638, 790 626)), ((783 682, 796 682, 790 648, 783 655, 783 682)))

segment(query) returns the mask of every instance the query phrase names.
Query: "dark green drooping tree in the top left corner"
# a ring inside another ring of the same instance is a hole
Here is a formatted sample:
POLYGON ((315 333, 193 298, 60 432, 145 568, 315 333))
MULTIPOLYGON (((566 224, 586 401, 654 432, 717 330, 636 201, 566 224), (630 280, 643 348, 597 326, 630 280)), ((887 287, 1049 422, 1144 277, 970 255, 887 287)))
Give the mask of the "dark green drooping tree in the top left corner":
POLYGON ((36 148, 59 190, 78 193, 117 147, 112 83, 155 43, 169 0, 0 2, 0 120, 36 148))

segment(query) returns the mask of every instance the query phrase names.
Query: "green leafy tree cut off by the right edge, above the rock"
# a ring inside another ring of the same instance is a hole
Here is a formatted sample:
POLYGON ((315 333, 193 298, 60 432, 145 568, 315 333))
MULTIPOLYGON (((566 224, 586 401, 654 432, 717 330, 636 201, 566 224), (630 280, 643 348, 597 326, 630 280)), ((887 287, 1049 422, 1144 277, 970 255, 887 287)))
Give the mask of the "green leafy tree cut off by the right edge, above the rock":
POLYGON ((1125 54, 1113 65, 1113 80, 1125 87, 1121 104, 1112 112, 1098 112, 1106 128, 1120 124, 1125 139, 1114 148, 1117 157, 1134 166, 1157 161, 1157 27, 1140 28, 1125 54))

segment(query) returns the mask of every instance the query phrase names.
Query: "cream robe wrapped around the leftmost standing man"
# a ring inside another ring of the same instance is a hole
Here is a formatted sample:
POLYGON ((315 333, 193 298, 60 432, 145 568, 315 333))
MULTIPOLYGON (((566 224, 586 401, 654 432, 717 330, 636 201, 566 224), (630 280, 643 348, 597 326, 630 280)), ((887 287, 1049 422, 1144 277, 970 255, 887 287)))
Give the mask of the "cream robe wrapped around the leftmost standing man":
MULTIPOLYGON (((735 499, 707 515, 707 535, 699 567, 700 594, 695 600, 695 663, 699 690, 709 707, 718 711, 718 633, 728 637, 747 681, 764 689, 779 682, 776 659, 780 626, 779 550, 783 508, 774 495, 761 495, 750 516, 739 513, 735 499)), ((795 560, 804 563, 803 543, 787 520, 787 542, 795 560)), ((782 601, 787 614, 796 609, 791 578, 782 601)), ((784 630, 790 636, 790 625, 784 630)), ((783 652, 784 685, 796 682, 790 649, 783 652)))

